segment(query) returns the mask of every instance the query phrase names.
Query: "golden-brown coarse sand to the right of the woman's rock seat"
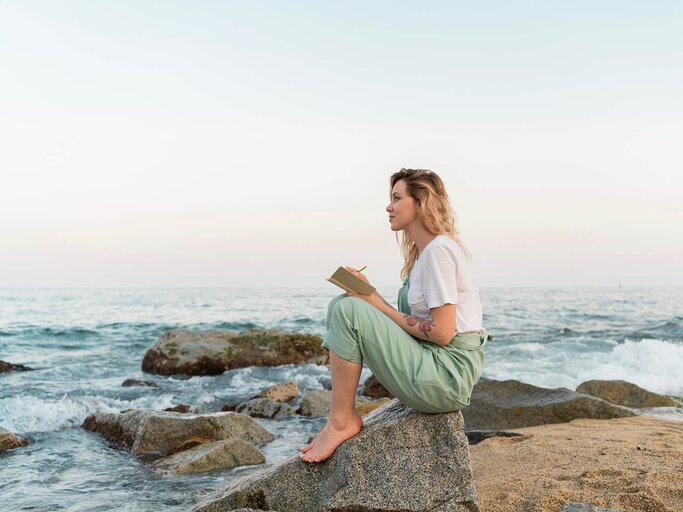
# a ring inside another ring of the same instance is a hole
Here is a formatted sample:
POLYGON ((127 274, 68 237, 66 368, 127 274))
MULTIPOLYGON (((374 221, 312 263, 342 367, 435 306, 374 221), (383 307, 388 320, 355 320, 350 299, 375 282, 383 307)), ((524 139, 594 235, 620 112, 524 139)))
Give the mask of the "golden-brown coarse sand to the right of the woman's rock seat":
POLYGON ((557 512, 571 502, 683 510, 683 423, 639 416, 516 431, 470 446, 486 512, 557 512))

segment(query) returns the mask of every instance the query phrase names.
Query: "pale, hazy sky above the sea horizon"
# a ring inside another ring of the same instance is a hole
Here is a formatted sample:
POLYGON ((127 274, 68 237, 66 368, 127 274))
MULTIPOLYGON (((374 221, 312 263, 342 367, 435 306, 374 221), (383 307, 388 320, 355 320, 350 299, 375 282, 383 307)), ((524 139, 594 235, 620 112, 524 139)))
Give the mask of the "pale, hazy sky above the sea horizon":
POLYGON ((398 286, 401 167, 444 179, 480 286, 681 286, 681 27, 678 1, 0 0, 0 287, 398 286))

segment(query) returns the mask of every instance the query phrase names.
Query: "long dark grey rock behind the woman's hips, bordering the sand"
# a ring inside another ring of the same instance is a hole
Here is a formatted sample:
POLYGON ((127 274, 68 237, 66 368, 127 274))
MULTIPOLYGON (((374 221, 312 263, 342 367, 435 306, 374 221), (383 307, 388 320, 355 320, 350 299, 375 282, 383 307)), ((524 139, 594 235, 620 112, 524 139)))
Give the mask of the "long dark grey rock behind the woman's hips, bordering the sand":
POLYGON ((467 430, 532 427, 577 418, 624 418, 633 411, 566 388, 539 388, 516 380, 480 379, 462 410, 467 430))

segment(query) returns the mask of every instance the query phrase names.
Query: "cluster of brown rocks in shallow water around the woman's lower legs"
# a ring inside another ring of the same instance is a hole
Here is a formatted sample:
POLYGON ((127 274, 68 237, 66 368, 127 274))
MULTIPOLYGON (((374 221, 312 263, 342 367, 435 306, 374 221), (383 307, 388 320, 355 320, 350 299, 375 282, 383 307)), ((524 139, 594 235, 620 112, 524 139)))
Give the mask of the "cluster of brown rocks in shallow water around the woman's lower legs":
MULTIPOLYGON (((270 386, 240 404, 226 404, 217 413, 194 414, 194 408, 180 404, 164 411, 97 413, 88 416, 82 426, 152 462, 155 471, 162 473, 198 473, 263 464, 265 456, 257 447, 274 436, 251 417, 329 414, 330 391, 305 394, 298 408, 287 403, 293 403, 299 394, 296 382, 289 381, 270 386)), ((359 397, 358 409, 364 415, 387 401, 359 397)))

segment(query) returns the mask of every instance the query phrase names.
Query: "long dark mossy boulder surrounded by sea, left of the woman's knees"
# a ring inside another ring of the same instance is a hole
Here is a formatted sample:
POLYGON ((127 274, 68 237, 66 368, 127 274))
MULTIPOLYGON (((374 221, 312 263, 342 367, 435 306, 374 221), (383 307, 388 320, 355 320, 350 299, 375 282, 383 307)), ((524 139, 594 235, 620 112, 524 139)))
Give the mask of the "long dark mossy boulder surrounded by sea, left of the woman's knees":
POLYGON ((247 366, 325 364, 327 351, 319 336, 253 329, 170 331, 145 354, 142 371, 160 375, 217 375, 247 366))

